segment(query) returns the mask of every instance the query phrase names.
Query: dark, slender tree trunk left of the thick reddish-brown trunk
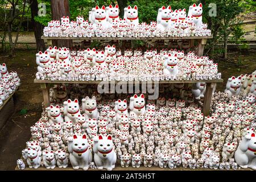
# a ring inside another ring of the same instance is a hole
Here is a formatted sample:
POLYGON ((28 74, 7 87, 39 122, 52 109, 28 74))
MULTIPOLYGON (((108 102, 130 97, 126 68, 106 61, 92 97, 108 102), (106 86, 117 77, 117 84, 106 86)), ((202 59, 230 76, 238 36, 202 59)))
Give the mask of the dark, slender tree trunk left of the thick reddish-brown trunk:
POLYGON ((30 9, 31 9, 31 23, 34 28, 34 34, 36 39, 36 51, 45 51, 46 44, 44 44, 44 40, 41 39, 43 26, 42 24, 35 22, 34 18, 38 15, 38 1, 30 0, 30 9))

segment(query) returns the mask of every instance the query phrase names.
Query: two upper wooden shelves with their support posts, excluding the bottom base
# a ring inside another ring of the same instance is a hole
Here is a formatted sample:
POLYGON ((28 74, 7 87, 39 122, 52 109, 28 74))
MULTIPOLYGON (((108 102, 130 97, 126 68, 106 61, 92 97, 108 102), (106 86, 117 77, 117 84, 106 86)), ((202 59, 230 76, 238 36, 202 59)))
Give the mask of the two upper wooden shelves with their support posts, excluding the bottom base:
MULTIPOLYGON (((195 41, 197 41, 197 55, 203 56, 204 46, 207 43, 207 39, 212 39, 212 36, 184 36, 184 37, 167 37, 167 38, 102 38, 102 37, 92 37, 92 38, 66 38, 66 37, 46 37, 42 36, 44 42, 47 42, 47 46, 52 46, 52 40, 73 40, 73 42, 82 42, 84 40, 144 40, 150 43, 154 40, 189 40, 189 46, 193 47, 195 41)), ((101 81, 51 81, 51 80, 34 80, 35 83, 40 83, 43 91, 44 106, 48 107, 49 103, 49 84, 99 84, 101 81)), ((174 81, 159 81, 159 84, 191 84, 196 82, 205 82, 207 84, 204 97, 204 115, 209 115, 210 102, 212 100, 212 90, 218 82, 223 82, 220 80, 174 80, 174 81)), ((144 83, 144 82, 143 82, 144 83)))

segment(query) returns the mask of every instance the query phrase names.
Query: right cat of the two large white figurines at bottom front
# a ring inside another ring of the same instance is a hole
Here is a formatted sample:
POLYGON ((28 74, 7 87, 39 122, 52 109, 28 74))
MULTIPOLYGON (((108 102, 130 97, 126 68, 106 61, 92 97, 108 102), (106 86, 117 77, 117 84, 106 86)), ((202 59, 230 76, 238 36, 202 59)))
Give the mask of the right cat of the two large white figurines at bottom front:
POLYGON ((117 154, 114 151, 112 136, 103 137, 101 134, 93 139, 94 162, 98 169, 112 171, 115 168, 117 154))

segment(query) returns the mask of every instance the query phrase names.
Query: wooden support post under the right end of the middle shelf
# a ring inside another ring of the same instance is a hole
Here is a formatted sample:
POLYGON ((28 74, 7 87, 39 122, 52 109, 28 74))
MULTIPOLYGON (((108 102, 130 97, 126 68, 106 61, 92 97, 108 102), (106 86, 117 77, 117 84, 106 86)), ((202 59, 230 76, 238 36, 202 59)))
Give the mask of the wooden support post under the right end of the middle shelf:
POLYGON ((216 86, 216 83, 207 83, 206 90, 204 94, 204 108, 203 113, 205 116, 210 113, 210 102, 212 101, 212 90, 216 86))

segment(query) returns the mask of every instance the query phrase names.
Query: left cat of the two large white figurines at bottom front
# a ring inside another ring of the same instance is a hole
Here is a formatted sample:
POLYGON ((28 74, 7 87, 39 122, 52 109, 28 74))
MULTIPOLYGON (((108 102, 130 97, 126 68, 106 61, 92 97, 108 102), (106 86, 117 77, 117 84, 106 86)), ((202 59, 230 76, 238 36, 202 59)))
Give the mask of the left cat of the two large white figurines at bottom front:
MULTIPOLYGON (((82 168, 88 170, 92 162, 92 152, 90 150, 86 135, 73 135, 68 138, 69 160, 73 169, 82 168)), ((94 159, 95 160, 95 159, 94 159)))

